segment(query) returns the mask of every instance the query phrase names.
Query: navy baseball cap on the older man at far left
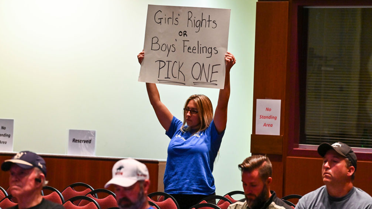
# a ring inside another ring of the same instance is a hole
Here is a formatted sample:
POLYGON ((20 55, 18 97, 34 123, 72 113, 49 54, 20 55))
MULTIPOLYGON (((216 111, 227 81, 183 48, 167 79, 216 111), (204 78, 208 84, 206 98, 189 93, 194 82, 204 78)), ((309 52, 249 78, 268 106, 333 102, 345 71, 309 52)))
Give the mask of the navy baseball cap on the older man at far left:
POLYGON ((16 165, 24 169, 30 169, 34 167, 39 168, 44 173, 45 177, 47 176, 47 166, 45 165, 45 160, 34 152, 18 152, 12 157, 12 159, 5 160, 4 163, 1 164, 1 170, 9 171, 12 163, 15 163, 16 165))

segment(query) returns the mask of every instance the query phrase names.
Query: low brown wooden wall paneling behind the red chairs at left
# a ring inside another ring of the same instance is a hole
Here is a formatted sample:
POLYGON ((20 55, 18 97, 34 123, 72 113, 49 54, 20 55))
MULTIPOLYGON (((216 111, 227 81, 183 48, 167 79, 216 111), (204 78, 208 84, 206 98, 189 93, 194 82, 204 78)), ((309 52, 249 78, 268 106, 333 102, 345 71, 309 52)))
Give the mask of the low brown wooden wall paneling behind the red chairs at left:
MULTIPOLYGON (((12 158, 14 154, 0 154, 0 163, 12 158)), ((62 191, 72 183, 83 182, 94 189, 103 188, 112 178, 112 167, 121 158, 100 158, 100 157, 73 157, 41 155, 47 164, 47 180, 49 186, 62 191)), ((149 193, 164 191, 163 175, 164 168, 159 170, 159 164, 165 162, 152 160, 138 160, 144 163, 150 174, 149 193), (160 176, 161 175, 161 176, 160 176), (161 182, 159 183, 159 179, 161 182), (158 187, 160 186, 160 190, 158 187)), ((164 167, 164 166, 163 166, 164 167)), ((9 172, 0 171, 0 186, 6 189, 9 187, 9 172)), ((113 186, 109 187, 113 191, 113 186)))

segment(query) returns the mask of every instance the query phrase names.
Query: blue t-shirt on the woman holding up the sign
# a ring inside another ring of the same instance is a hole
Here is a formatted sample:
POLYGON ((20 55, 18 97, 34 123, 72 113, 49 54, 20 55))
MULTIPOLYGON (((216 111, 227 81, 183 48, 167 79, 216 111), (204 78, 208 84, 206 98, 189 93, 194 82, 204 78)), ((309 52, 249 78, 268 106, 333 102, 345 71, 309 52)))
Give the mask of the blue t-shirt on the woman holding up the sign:
POLYGON ((216 190, 213 164, 225 131, 218 134, 213 121, 207 129, 193 135, 183 133, 181 126, 182 121, 173 116, 166 132, 171 140, 164 173, 164 192, 212 194, 216 190))

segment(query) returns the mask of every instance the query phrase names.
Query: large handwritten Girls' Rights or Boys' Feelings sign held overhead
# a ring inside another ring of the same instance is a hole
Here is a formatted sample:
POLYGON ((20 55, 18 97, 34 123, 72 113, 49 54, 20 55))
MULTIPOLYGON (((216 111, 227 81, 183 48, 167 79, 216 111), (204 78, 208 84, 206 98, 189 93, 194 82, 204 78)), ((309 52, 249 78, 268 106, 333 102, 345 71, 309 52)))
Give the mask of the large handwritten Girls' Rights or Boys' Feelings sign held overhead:
POLYGON ((148 5, 138 81, 224 88, 230 9, 148 5))

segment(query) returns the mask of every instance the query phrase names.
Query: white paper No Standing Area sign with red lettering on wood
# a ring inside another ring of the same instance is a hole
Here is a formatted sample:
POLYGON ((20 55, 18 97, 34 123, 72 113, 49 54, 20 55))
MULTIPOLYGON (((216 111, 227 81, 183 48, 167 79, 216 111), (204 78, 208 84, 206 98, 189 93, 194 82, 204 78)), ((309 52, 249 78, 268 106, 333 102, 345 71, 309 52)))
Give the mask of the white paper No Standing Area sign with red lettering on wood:
POLYGON ((257 99, 256 134, 280 135, 280 99, 257 99))

